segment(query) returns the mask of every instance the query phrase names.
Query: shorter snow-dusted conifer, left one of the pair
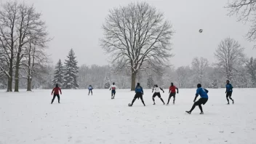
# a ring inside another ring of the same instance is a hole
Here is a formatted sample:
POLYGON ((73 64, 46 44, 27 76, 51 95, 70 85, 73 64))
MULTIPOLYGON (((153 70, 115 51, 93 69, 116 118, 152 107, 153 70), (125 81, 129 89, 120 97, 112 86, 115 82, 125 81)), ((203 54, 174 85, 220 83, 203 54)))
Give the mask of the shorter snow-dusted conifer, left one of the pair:
POLYGON ((63 63, 61 63, 61 60, 59 60, 55 66, 55 73, 52 80, 52 85, 55 86, 55 84, 59 84, 59 87, 63 86, 63 63))

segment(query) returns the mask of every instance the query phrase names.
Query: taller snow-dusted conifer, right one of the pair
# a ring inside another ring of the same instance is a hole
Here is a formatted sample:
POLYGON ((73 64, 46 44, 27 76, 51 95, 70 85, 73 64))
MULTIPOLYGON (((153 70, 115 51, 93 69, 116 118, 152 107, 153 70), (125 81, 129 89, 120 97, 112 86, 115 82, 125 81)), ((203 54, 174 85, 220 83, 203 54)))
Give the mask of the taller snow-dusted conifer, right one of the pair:
POLYGON ((68 59, 65 60, 65 71, 64 71, 64 84, 65 89, 78 89, 78 77, 79 77, 79 67, 77 66, 77 61, 73 49, 68 52, 68 59))

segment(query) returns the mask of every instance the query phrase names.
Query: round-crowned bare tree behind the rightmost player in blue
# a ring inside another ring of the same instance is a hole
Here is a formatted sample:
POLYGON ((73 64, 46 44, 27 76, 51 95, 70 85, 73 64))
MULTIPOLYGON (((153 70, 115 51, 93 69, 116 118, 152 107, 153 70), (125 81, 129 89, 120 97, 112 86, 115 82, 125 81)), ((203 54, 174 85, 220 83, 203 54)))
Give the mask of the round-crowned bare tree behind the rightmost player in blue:
POLYGON ((225 73, 226 78, 231 80, 233 74, 239 71, 237 69, 239 65, 244 63, 244 48, 240 46, 238 41, 226 38, 220 41, 215 51, 215 57, 217 67, 224 70, 222 72, 225 73))

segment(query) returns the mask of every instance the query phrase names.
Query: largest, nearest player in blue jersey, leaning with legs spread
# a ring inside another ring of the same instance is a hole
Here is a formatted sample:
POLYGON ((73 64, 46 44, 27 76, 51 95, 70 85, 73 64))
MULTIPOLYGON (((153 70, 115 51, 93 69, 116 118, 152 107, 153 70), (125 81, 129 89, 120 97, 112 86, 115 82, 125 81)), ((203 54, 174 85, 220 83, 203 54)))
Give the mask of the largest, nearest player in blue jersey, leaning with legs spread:
POLYGON ((201 84, 197 84, 197 89, 196 89, 196 97, 193 100, 193 106, 191 108, 191 111, 185 111, 188 114, 191 114, 191 112, 193 111, 194 108, 196 108, 196 105, 199 106, 201 113, 200 114, 204 114, 203 108, 201 107, 201 104, 205 104, 208 101, 208 90, 204 89, 201 87, 201 84), (200 99, 196 101, 196 98, 200 95, 200 99))

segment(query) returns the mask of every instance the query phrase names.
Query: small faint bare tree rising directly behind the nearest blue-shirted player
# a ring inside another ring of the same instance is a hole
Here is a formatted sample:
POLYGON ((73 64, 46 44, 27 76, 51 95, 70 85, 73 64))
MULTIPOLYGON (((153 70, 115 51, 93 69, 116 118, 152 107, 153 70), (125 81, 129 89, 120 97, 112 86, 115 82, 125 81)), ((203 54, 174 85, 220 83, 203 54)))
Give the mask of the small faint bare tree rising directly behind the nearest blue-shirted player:
POLYGON ((205 76, 205 69, 209 65, 208 60, 204 57, 195 57, 192 61, 192 70, 196 74, 196 81, 202 84, 202 79, 205 76))

